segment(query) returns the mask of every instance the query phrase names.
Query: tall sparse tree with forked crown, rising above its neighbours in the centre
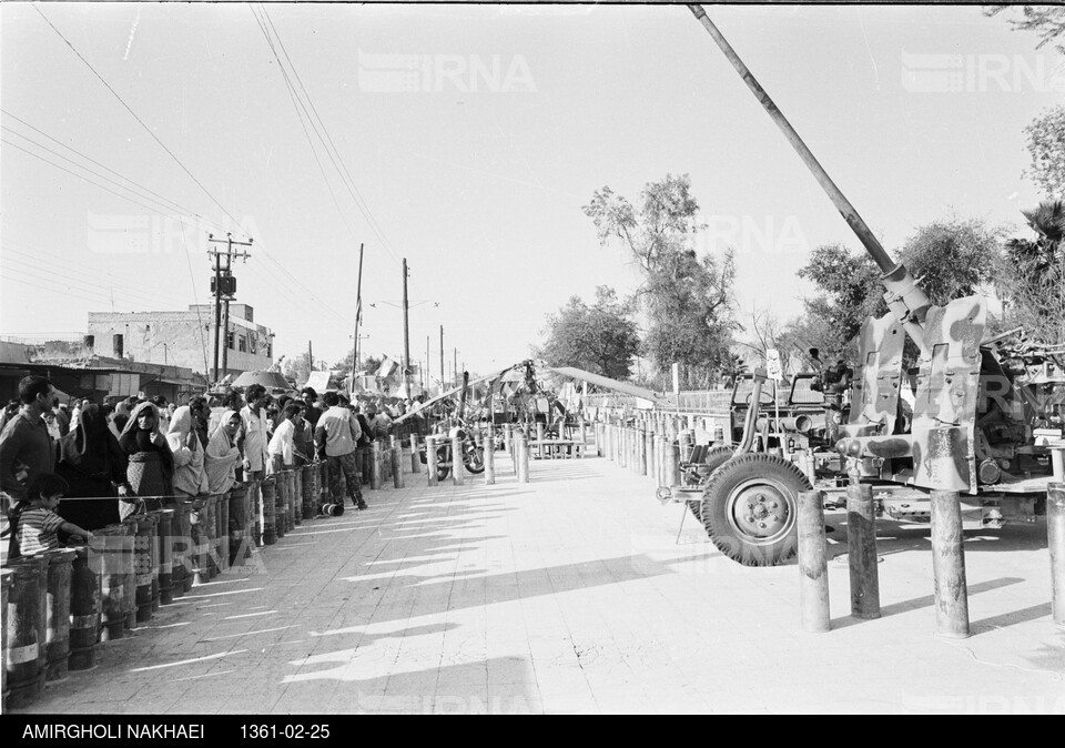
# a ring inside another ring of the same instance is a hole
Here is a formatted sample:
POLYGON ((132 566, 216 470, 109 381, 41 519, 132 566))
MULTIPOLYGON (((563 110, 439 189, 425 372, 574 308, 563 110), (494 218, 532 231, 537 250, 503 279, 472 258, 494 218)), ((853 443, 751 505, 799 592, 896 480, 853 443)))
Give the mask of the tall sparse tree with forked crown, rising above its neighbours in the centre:
POLYGON ((736 322, 731 252, 699 257, 691 243, 703 228, 691 180, 667 174, 640 193, 639 210, 609 186, 584 212, 604 245, 620 239, 639 263, 638 297, 648 316, 643 350, 660 372, 681 364, 686 385, 706 384, 723 366, 736 322))

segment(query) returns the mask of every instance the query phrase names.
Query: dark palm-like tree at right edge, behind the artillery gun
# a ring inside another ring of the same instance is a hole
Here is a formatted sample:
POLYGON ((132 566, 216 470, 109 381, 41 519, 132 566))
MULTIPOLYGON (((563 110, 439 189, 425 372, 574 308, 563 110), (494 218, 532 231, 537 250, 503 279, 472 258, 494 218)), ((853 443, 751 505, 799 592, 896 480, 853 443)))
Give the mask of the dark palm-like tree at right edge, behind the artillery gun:
POLYGON ((1005 244, 1000 293, 1007 324, 1023 325, 1043 343, 1065 344, 1065 205, 1044 202, 1023 215, 1036 236, 1005 244))

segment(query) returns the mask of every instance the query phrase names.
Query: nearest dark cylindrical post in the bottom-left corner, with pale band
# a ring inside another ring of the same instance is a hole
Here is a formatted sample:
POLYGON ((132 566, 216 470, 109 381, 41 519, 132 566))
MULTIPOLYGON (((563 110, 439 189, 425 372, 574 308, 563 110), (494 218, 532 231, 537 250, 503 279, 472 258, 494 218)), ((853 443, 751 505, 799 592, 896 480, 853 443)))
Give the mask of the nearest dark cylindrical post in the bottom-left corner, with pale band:
POLYGON ((7 641, 3 665, 8 674, 4 709, 20 709, 36 701, 44 689, 44 650, 41 620, 47 584, 47 562, 26 556, 10 562, 11 589, 3 609, 7 641))

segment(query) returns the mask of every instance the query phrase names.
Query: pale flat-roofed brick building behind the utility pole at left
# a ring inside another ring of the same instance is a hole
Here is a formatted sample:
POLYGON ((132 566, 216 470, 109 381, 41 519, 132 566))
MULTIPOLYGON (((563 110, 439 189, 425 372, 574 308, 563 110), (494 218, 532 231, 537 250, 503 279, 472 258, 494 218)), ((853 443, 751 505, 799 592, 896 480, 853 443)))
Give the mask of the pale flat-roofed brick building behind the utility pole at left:
MULTIPOLYGON (((273 364, 274 333, 256 324, 247 304, 230 304, 223 354, 225 373, 264 371, 273 364)), ((211 376, 214 366, 214 306, 184 312, 90 312, 85 344, 95 354, 181 366, 211 376)))

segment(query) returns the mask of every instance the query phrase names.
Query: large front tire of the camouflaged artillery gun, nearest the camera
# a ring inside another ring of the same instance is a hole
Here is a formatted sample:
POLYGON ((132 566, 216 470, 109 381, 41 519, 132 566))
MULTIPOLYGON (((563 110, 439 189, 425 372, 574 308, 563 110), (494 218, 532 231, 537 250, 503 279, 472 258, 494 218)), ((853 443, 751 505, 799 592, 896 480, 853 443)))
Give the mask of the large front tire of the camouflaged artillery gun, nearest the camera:
POLYGON ((774 566, 794 556, 799 492, 811 488, 793 463, 751 453, 726 462, 702 493, 702 524, 713 545, 744 566, 774 566))

